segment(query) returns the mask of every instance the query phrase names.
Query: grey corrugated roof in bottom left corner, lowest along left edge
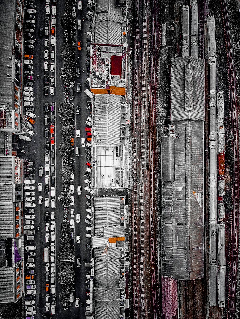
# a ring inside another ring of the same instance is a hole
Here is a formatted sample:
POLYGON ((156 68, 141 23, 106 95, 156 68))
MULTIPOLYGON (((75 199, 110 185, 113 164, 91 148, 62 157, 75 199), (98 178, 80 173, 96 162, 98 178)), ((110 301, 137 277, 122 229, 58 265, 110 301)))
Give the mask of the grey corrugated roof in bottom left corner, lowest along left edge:
POLYGON ((15 267, 0 267, 0 302, 16 302, 15 267))

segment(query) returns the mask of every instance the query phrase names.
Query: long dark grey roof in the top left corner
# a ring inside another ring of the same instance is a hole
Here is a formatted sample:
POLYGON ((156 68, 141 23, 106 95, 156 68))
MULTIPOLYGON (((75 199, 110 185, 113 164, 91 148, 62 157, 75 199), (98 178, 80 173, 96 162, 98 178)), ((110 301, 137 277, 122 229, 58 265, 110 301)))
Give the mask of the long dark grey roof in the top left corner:
POLYGON ((7 73, 12 74, 12 69, 7 64, 12 64, 13 60, 8 60, 13 55, 15 46, 15 18, 16 0, 4 0, 0 2, 0 105, 9 103, 12 109, 12 77, 7 77, 7 73))

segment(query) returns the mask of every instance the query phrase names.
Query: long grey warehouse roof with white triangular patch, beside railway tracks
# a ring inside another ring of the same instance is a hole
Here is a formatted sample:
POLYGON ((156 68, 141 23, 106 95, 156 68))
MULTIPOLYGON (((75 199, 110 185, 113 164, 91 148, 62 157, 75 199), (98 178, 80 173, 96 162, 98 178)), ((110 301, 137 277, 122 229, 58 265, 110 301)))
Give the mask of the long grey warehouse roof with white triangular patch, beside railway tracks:
POLYGON ((161 149, 162 275, 176 279, 204 278, 203 123, 173 121, 179 138, 172 152, 164 154, 167 138, 161 149))

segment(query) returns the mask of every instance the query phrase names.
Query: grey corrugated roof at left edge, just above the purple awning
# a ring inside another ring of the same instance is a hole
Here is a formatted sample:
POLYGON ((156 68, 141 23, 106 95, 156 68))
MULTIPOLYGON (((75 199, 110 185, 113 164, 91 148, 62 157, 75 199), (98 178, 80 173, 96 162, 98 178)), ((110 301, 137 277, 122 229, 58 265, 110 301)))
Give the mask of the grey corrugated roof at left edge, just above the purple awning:
POLYGON ((12 184, 0 184, 0 238, 15 238, 15 204, 12 184))

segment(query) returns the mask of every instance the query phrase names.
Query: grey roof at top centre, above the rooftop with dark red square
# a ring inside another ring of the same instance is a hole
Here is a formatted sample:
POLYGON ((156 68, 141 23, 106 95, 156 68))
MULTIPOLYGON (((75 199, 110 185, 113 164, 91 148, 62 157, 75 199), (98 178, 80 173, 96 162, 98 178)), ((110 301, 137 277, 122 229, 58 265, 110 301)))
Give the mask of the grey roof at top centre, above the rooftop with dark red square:
POLYGON ((95 43, 122 44, 122 8, 115 0, 98 0, 95 18, 95 43))

